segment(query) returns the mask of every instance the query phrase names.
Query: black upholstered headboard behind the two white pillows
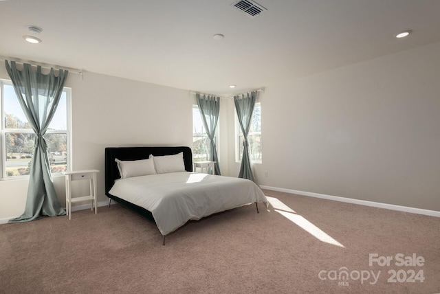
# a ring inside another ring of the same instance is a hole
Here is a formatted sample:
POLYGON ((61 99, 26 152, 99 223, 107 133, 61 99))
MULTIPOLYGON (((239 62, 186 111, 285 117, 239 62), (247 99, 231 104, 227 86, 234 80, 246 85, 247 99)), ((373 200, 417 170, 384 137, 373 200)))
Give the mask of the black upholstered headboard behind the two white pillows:
POLYGON ((149 155, 175 155, 184 152, 185 170, 192 172, 192 152, 191 148, 180 147, 107 147, 105 148, 105 194, 109 196, 109 191, 115 179, 120 179, 118 166, 115 159, 138 160, 146 159, 149 155))

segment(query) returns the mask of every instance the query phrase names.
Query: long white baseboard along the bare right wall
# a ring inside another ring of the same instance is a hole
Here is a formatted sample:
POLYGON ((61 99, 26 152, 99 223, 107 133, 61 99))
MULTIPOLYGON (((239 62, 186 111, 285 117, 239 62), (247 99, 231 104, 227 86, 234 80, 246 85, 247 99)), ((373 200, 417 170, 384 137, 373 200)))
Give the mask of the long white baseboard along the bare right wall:
POLYGON ((305 192, 305 191, 290 190, 290 189, 284 189, 284 188, 276 188, 276 187, 270 187, 270 186, 265 186, 265 185, 261 185, 260 187, 261 187, 261 189, 265 189, 265 190, 285 192, 285 193, 289 193, 289 194, 298 194, 298 195, 302 195, 302 196, 311 196, 311 197, 320 198, 320 199, 328 199, 328 200, 353 203, 353 204, 358 204, 358 205, 379 207, 379 208, 385 208, 386 210, 397 210, 399 212, 410 212, 412 214, 423 214, 426 216, 435 216, 437 218, 440 218, 440 212, 437 212, 435 210, 423 210, 421 208, 415 208, 415 207, 400 206, 400 205, 380 203, 380 202, 374 202, 374 201, 366 201, 366 200, 360 200, 360 199, 351 199, 351 198, 345 198, 345 197, 340 197, 340 196, 331 196, 331 195, 318 194, 318 193, 313 193, 313 192, 305 192))

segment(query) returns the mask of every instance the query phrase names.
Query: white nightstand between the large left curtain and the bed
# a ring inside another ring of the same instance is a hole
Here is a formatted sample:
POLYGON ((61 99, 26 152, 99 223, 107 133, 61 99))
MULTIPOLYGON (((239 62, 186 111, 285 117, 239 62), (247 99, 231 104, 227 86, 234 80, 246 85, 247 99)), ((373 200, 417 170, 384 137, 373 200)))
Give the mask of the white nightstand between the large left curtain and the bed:
POLYGON ((99 170, 77 170, 75 172, 63 172, 66 177, 66 210, 69 219, 72 219, 72 203, 80 201, 90 201, 90 209, 98 214, 98 206, 96 205, 96 174, 99 170), (72 198, 72 181, 89 180, 90 194, 72 198))

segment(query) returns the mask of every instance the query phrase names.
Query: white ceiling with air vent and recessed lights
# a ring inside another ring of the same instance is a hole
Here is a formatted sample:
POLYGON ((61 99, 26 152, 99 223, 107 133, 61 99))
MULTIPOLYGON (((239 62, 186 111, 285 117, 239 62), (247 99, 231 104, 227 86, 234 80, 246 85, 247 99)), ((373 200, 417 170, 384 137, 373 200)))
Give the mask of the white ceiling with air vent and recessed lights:
POLYGON ((256 2, 251 18, 234 0, 0 1, 0 58, 232 95, 440 41, 439 0, 256 2))

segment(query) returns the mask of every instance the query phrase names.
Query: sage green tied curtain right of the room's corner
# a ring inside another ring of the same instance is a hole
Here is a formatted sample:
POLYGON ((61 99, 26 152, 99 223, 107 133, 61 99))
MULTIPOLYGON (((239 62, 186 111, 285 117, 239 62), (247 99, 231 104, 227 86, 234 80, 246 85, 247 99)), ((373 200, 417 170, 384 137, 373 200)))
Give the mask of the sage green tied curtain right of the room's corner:
POLYGON ((256 91, 246 95, 234 96, 236 115, 239 118, 241 132, 243 133, 243 158, 241 159, 239 178, 250 179, 254 181, 254 175, 250 167, 248 134, 250 122, 256 102, 256 91))

